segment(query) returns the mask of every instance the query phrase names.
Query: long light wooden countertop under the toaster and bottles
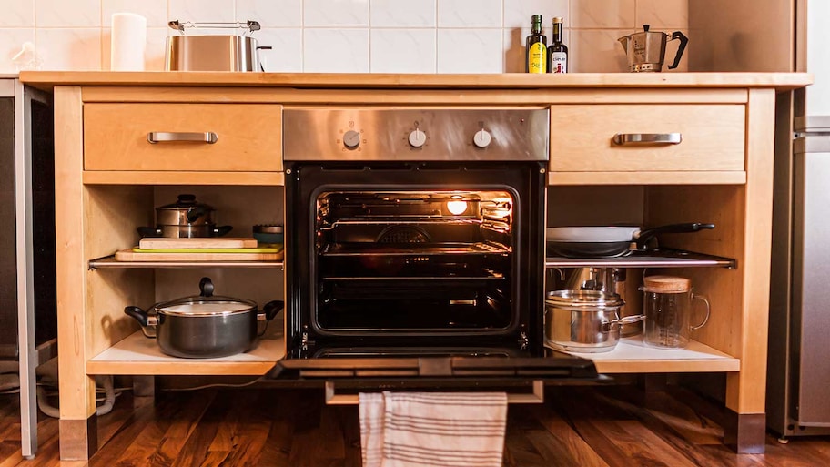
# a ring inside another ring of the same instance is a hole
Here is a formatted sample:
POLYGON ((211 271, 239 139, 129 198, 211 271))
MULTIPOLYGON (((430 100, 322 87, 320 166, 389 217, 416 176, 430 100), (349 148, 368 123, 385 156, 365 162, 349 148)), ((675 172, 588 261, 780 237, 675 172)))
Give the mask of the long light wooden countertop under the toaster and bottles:
POLYGON ((570 73, 562 75, 233 73, 23 71, 30 86, 253 86, 293 88, 567 88, 567 87, 774 87, 790 90, 813 83, 807 73, 570 73))

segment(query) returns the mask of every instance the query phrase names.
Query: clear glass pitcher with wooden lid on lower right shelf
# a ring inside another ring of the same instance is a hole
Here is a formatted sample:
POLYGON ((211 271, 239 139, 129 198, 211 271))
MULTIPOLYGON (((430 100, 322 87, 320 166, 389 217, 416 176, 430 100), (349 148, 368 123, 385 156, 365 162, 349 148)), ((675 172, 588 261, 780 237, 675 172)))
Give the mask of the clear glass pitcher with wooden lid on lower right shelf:
POLYGON ((661 349, 688 347, 693 330, 703 328, 709 320, 709 299, 693 293, 689 279, 673 276, 643 278, 643 342, 661 349), (696 326, 690 324, 693 299, 706 305, 706 317, 696 326))

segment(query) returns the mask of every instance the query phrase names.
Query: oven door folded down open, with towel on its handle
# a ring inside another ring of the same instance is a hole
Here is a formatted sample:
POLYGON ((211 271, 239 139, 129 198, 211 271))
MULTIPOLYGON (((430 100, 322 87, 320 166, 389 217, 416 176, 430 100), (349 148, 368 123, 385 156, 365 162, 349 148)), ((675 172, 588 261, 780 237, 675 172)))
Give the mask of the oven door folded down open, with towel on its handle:
POLYGON ((545 350, 543 357, 502 349, 338 348, 313 358, 288 355, 272 372, 279 380, 320 381, 329 404, 358 403, 359 391, 506 391, 511 403, 543 401, 545 385, 611 381, 592 360, 545 350), (512 352, 509 352, 512 353, 512 352))

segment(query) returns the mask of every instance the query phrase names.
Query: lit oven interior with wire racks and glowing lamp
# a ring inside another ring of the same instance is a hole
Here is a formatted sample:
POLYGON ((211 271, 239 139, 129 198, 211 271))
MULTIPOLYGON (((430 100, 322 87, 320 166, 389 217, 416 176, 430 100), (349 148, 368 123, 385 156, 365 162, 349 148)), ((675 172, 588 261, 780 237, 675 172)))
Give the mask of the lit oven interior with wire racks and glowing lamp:
POLYGON ((510 328, 514 202, 507 189, 320 193, 315 325, 398 334, 510 328))

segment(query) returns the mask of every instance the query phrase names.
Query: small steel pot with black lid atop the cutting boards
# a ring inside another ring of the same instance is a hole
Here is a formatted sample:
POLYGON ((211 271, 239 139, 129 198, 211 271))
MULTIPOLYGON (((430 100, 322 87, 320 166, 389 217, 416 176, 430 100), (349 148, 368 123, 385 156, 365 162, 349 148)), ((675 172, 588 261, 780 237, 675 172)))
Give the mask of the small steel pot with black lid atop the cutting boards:
POLYGON ((178 195, 175 203, 156 208, 155 228, 139 227, 138 233, 142 237, 173 239, 221 237, 233 228, 217 226, 214 212, 216 209, 197 202, 194 195, 178 195))

